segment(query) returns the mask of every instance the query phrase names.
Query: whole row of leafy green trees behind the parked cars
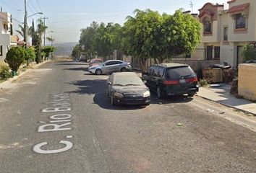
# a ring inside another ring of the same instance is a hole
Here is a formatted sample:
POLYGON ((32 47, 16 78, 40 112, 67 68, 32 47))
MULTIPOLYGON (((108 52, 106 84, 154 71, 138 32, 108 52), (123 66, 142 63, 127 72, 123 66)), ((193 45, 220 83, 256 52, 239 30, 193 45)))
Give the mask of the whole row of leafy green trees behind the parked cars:
POLYGON ((118 50, 138 58, 144 71, 148 58, 162 63, 166 58, 192 53, 200 43, 200 31, 200 22, 181 10, 171 15, 136 9, 123 27, 93 22, 81 30, 79 45, 82 52, 103 58, 118 50))

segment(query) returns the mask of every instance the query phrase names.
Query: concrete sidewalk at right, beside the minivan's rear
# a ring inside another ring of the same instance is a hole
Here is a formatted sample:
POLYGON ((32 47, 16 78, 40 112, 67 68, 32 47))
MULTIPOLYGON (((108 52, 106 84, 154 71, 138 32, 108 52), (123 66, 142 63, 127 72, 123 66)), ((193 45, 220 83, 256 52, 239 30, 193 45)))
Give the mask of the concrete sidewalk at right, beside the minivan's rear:
POLYGON ((230 86, 227 84, 222 84, 219 87, 203 86, 200 87, 196 95, 256 115, 256 103, 236 98, 229 94, 229 89, 230 86))

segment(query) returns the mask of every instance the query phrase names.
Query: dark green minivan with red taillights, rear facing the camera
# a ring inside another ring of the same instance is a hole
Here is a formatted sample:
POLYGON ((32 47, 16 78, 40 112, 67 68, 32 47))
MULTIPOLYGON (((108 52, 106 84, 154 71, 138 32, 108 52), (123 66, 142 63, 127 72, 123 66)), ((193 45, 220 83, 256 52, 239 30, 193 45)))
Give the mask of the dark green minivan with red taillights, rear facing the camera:
POLYGON ((179 94, 193 97, 198 92, 197 75, 186 64, 162 63, 151 66, 142 79, 151 91, 156 92, 158 98, 179 94))

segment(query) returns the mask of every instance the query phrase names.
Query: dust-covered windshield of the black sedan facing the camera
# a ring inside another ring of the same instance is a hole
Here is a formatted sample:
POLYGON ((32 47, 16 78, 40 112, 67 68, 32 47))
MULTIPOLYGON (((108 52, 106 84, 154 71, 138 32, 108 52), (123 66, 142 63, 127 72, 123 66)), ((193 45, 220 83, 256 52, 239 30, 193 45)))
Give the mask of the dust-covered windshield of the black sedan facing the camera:
POLYGON ((139 86, 143 84, 143 81, 139 76, 117 75, 114 76, 113 84, 120 86, 139 86))

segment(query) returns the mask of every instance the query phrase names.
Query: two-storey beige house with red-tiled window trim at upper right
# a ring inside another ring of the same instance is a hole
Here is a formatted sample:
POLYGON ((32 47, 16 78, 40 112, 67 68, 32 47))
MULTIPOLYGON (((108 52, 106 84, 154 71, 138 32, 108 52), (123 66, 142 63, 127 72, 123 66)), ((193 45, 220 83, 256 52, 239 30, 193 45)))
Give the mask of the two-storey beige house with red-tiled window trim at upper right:
POLYGON ((203 25, 200 48, 206 50, 205 59, 237 67, 243 62, 243 45, 256 42, 256 1, 231 0, 228 4, 229 9, 211 3, 199 9, 203 25))

